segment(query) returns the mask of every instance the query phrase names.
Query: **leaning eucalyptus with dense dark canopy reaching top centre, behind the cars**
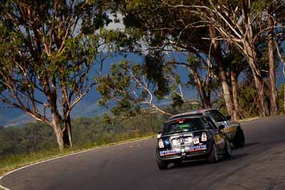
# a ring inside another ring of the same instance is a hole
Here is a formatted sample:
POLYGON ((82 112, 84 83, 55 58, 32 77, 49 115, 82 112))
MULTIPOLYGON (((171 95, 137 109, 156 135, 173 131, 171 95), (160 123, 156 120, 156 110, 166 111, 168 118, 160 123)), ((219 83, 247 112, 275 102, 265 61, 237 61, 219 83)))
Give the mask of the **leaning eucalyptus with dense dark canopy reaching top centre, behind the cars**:
MULTIPOLYGON (((234 105, 231 97, 230 80, 227 78, 227 68, 223 65, 222 46, 212 47, 209 26, 200 21, 199 16, 189 14, 187 11, 172 9, 167 1, 117 1, 119 11, 123 15, 123 20, 127 28, 136 28, 143 31, 141 41, 148 48, 156 48, 160 51, 178 51, 193 53, 197 58, 203 54, 206 62, 204 68, 209 75, 220 81, 223 90, 223 97, 227 110, 232 115, 234 105), (217 68, 217 69, 216 69, 217 68)), ((188 63, 185 63, 188 65, 188 63)), ((194 75, 199 83, 202 78, 197 74, 197 69, 189 65, 192 70, 190 75, 194 75), (195 72, 194 72, 195 71, 195 72)), ((209 80, 207 80, 209 81, 209 80)), ((207 85, 197 85, 197 91, 200 93, 201 100, 208 98, 201 88, 207 88, 207 85), (204 98, 203 98, 204 96, 204 98)), ((207 91, 207 90, 206 90, 207 91)), ((211 107, 209 101, 206 107, 211 107)), ((205 102, 203 102, 205 105, 205 102)))

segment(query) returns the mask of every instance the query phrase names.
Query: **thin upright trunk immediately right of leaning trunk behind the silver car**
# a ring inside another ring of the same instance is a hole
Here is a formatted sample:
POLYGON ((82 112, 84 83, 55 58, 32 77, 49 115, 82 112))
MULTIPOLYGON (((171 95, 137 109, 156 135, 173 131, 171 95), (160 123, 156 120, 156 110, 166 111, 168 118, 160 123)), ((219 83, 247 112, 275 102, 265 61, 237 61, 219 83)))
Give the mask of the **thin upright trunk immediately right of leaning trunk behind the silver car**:
POLYGON ((232 81, 232 99, 234 100, 234 110, 233 110, 233 120, 239 120, 239 100, 237 93, 237 73, 234 70, 231 71, 231 81, 232 81))

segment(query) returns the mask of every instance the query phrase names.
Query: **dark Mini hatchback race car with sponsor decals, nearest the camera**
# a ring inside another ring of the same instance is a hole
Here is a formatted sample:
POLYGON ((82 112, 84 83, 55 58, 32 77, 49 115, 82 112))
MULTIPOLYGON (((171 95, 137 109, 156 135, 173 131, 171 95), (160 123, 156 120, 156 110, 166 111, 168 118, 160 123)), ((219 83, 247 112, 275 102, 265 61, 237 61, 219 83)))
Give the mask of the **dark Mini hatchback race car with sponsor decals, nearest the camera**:
POLYGON ((157 167, 167 169, 168 164, 180 164, 188 159, 207 159, 218 162, 219 155, 232 157, 232 147, 224 125, 217 127, 203 115, 173 119, 165 122, 157 135, 157 167))

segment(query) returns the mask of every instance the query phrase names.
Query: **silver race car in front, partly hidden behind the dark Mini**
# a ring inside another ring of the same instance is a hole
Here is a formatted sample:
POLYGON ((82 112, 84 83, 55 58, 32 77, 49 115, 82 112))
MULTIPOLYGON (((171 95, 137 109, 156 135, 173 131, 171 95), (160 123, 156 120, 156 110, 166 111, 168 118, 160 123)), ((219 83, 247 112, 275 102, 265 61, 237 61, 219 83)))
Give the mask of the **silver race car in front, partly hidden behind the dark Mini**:
POLYGON ((225 127, 222 132, 225 132, 227 134, 229 142, 232 142, 234 144, 234 147, 236 148, 244 147, 244 131, 242 130, 242 127, 239 122, 231 121, 230 116, 224 117, 224 115, 222 115, 222 113, 220 113, 218 110, 207 109, 197 110, 195 112, 185 112, 182 114, 173 115, 172 117, 170 117, 170 120, 188 117, 191 115, 206 115, 211 118, 215 125, 224 125, 225 127))

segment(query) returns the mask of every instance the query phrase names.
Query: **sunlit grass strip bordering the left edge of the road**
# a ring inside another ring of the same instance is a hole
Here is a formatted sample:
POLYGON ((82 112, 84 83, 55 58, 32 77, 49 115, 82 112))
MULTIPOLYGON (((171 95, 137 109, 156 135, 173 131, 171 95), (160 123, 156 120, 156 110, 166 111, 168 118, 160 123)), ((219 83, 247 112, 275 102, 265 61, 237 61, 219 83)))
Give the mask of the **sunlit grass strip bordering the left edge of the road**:
MULTIPOLYGON (((59 152, 58 149, 46 149, 41 150, 38 152, 30 152, 29 154, 16 154, 16 155, 9 155, 4 158, 0 159, 0 176, 4 176, 9 171, 13 171, 14 169, 18 169, 21 167, 25 167, 30 164, 35 164, 37 162, 42 162, 47 159, 53 159, 56 157, 61 157, 68 154, 73 154, 76 152, 82 152, 88 149, 95 149, 100 147, 108 147, 115 144, 122 144, 125 142, 134 142, 139 139, 147 139, 150 137, 155 137, 156 134, 144 134, 140 137, 133 137, 125 139, 119 139, 118 141, 114 142, 100 142, 99 144, 96 143, 86 143, 81 144, 78 147, 75 147, 73 150, 66 150, 64 152, 59 152)), ((1 189, 1 188, 0 188, 1 189)))

